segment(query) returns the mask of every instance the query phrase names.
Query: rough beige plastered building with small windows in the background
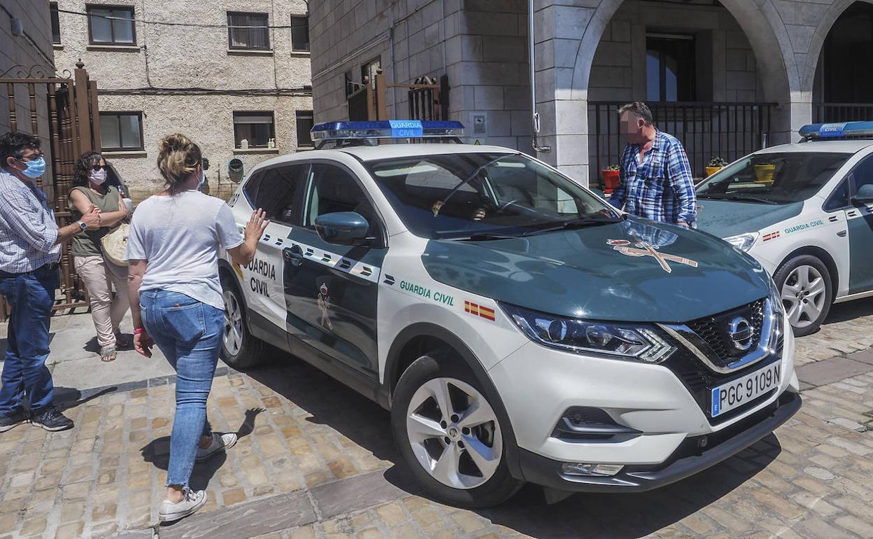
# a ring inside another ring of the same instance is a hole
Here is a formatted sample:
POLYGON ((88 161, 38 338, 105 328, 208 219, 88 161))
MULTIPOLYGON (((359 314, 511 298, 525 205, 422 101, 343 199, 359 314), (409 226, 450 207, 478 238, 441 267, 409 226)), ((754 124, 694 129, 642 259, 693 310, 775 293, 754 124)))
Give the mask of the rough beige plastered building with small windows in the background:
POLYGON ((81 59, 97 82, 103 155, 134 202, 162 186, 157 142, 182 133, 210 159, 210 193, 243 172, 309 149, 312 86, 305 0, 58 0, 58 70, 81 59))

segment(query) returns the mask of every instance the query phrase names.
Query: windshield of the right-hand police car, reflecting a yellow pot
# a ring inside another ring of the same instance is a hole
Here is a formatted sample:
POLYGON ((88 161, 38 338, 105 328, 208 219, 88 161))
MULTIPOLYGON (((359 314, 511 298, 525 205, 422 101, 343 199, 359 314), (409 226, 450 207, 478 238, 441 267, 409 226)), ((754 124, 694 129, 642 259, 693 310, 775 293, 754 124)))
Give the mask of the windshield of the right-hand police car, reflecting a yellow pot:
POLYGON ((701 183, 698 198, 789 204, 812 197, 851 154, 787 152, 749 155, 701 183))

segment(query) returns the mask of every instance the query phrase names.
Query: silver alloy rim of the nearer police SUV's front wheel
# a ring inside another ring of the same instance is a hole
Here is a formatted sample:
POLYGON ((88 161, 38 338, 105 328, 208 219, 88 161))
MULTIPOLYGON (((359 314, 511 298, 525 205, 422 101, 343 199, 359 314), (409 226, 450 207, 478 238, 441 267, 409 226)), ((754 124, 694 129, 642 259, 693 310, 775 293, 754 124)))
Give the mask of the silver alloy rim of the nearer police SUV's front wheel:
POLYGON ((416 390, 407 409, 406 432, 419 464, 447 487, 484 484, 503 455, 491 404, 456 378, 432 378, 416 390))

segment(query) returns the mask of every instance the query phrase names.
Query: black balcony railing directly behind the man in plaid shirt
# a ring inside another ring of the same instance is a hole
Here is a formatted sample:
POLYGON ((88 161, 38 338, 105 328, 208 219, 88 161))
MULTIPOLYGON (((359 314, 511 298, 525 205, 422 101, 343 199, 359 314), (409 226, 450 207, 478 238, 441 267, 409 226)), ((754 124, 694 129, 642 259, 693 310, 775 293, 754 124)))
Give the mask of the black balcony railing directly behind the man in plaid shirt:
MULTIPOLYGON (((618 125, 619 101, 588 101, 588 181, 601 184, 601 170, 618 164, 627 142, 618 125)), ((696 178, 706 176, 711 157, 732 162, 766 145, 775 103, 648 103, 656 128, 683 143, 696 178)))

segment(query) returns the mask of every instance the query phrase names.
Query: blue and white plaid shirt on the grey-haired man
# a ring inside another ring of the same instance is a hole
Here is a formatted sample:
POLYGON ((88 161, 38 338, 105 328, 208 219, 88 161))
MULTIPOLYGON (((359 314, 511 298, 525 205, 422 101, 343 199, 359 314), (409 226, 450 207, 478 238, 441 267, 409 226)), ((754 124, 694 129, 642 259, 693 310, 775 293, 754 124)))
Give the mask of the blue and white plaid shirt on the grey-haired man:
POLYGON ((691 225, 697 220, 697 197, 691 165, 682 142, 660 131, 639 161, 640 147, 628 144, 622 154, 621 181, 609 202, 632 215, 654 221, 691 225))

